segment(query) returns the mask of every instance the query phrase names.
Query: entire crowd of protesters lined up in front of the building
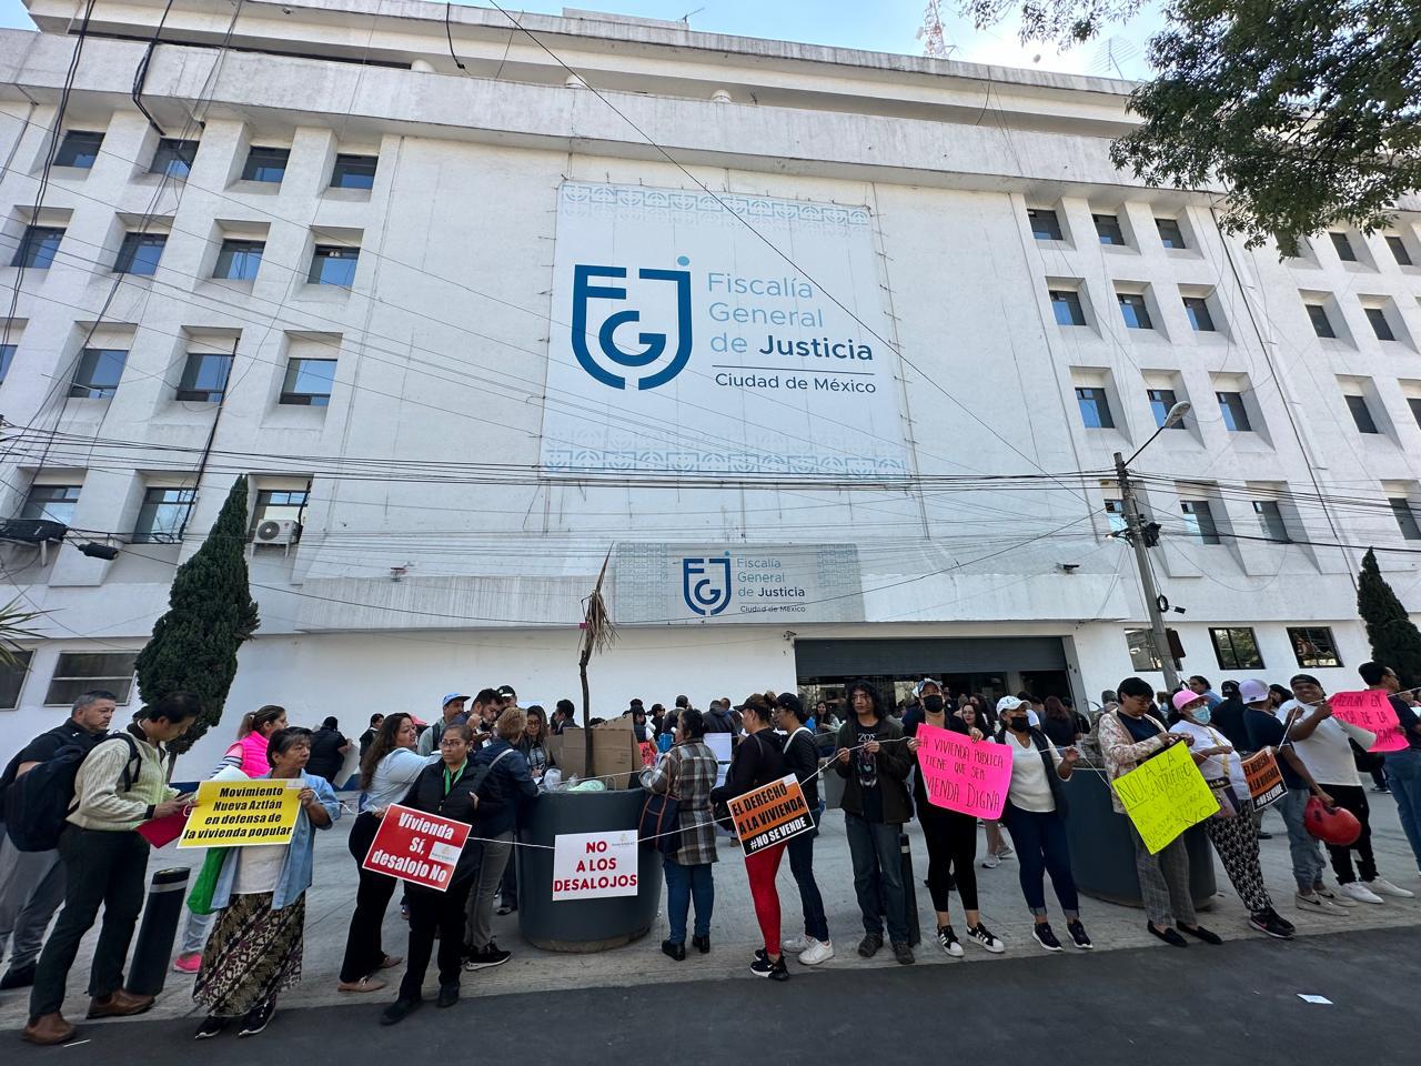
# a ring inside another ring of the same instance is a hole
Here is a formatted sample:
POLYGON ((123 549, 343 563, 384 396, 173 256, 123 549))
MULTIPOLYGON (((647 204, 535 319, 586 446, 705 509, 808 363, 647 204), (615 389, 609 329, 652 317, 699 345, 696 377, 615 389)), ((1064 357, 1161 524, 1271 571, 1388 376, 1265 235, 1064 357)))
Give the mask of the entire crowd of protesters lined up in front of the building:
MULTIPOLYGON (((793 775, 804 793, 810 830, 745 860, 763 940, 749 968, 757 976, 786 981, 793 972, 789 957, 806 967, 834 957, 814 873, 827 799, 824 773, 843 785, 840 806, 863 921, 860 957, 877 955, 887 932, 892 958, 915 961, 909 930, 917 920, 909 912, 912 893, 901 860, 902 827, 914 819, 928 847, 926 887, 936 948, 945 955, 962 957, 963 942, 992 954, 1006 951, 1006 941, 982 918, 978 868, 995 868, 1013 856, 1034 942, 1046 951, 1063 951, 1046 901, 1049 877, 1064 921, 1064 942, 1090 949, 1094 945, 1071 874, 1066 782, 1083 768, 1113 780, 1174 745, 1188 748, 1218 800, 1219 810, 1205 819, 1204 829, 1249 925, 1259 932, 1289 940, 1295 928, 1279 914, 1259 866, 1259 839, 1266 834, 1259 831, 1260 812, 1242 770, 1243 759, 1258 750, 1273 752, 1282 772, 1285 795, 1277 810, 1287 827, 1297 910, 1341 914, 1381 904, 1385 897, 1412 897, 1377 868, 1363 776, 1381 775, 1421 870, 1421 702, 1415 691, 1403 691, 1385 665, 1368 662, 1358 672, 1366 688, 1383 692, 1395 714, 1405 741, 1401 750, 1370 752, 1377 735, 1334 715, 1322 684, 1307 674, 1293 677, 1286 688, 1260 679, 1226 682, 1223 695, 1198 675, 1168 694, 1131 677, 1103 692, 1088 715, 1066 698, 1036 699, 1026 692, 995 702, 971 694, 953 699, 935 678, 917 682, 898 705, 887 704, 867 681, 848 685, 841 704, 820 701, 813 708, 790 692, 752 694, 739 704, 716 698, 705 711, 684 695, 671 709, 654 704, 648 711, 639 699, 632 701, 625 715, 647 760, 634 785, 648 796, 674 799, 678 807, 678 829, 661 847, 668 912, 661 949, 678 962, 686 959, 689 934, 692 951, 710 951, 713 866, 718 831, 723 831, 718 823, 728 824, 730 800, 793 775), (915 773, 926 729, 1009 749, 1010 785, 1000 819, 985 824, 980 863, 978 819, 932 803, 924 776, 915 773), (728 763, 718 760, 708 743, 710 733, 729 733, 728 763), (1310 804, 1346 812, 1357 826, 1349 843, 1327 844, 1336 888, 1324 878, 1327 860, 1307 824, 1310 804), (784 935, 776 884, 786 856, 803 920, 803 931, 791 935, 784 935), (953 905, 961 908, 961 937, 953 905)), ((87 1016, 138 1015, 153 1003, 151 995, 124 989, 149 851, 136 830, 190 803, 190 795, 178 795, 168 783, 166 745, 189 729, 200 704, 196 696, 173 694, 142 708, 124 729, 109 732, 115 704, 109 692, 84 694, 70 721, 36 738, 0 777, 0 796, 6 797, 0 951, 10 948, 0 988, 30 986, 24 1038, 33 1043, 58 1045, 72 1038, 75 1026, 61 1011, 65 985, 80 942, 95 924, 101 930, 87 1016), (33 803, 34 796, 47 795, 43 789, 60 786, 70 789, 70 799, 50 827, 50 839, 44 819, 31 813, 33 803), (57 910, 58 920, 45 937, 57 910)), ((298 790, 300 812, 288 843, 207 853, 173 961, 173 969, 195 975, 192 998, 206 1011, 196 1038, 215 1038, 232 1026, 240 1036, 260 1033, 280 994, 301 979, 315 831, 341 817, 341 786, 354 785, 360 792, 348 839, 358 887, 337 988, 357 996, 378 992, 387 986, 382 974, 404 967, 394 1002, 379 1016, 381 1023, 395 1025, 425 1002, 431 962, 438 972, 438 1006, 458 1002, 460 974, 506 962, 510 952, 493 938, 495 907, 502 901, 500 912, 506 914, 517 905, 510 863, 517 829, 527 804, 554 779, 550 738, 570 726, 576 726, 570 701, 558 701, 549 719, 541 706, 520 708, 512 687, 482 689, 472 704, 468 695, 450 692, 432 723, 409 714, 374 715, 358 738, 358 772, 342 780, 348 776, 342 775, 347 755, 357 743, 340 732, 337 719, 327 718, 310 731, 290 726, 287 712, 274 705, 246 715, 213 776, 288 782, 298 790), (371 841, 394 804, 470 827, 446 891, 364 868, 371 841), (408 920, 404 957, 387 951, 382 934, 396 890, 408 920)), ((1114 790, 1111 799, 1123 813, 1114 790)), ((1191 938, 1222 942, 1195 914, 1184 837, 1151 851, 1134 824, 1125 824, 1148 931, 1174 947, 1187 947, 1191 938)))

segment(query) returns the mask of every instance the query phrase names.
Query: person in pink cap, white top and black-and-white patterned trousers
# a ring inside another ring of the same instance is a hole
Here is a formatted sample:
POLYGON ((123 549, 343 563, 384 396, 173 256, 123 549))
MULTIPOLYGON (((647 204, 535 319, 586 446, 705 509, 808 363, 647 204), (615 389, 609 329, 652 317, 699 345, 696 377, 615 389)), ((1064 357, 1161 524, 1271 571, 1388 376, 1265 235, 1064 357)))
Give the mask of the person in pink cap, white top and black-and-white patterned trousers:
POLYGON ((1273 900, 1263 884, 1263 871, 1258 866, 1258 830, 1243 759, 1212 721, 1214 708, 1202 694, 1187 688, 1174 694, 1171 729, 1194 738, 1194 762, 1219 799, 1219 813, 1205 819, 1204 829, 1239 900, 1249 910, 1248 924, 1269 937, 1292 940, 1293 925, 1273 910, 1273 900))

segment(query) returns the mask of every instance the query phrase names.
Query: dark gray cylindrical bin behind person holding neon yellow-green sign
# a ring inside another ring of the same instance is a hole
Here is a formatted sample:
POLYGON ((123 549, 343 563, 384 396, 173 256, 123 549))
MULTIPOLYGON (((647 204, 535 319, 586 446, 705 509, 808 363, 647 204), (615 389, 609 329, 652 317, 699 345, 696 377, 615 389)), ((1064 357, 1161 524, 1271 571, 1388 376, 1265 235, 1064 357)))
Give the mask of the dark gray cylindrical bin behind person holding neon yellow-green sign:
MULTIPOLYGON (((1077 770, 1064 785, 1070 800, 1066 836, 1076 887, 1106 903, 1142 907, 1130 823, 1111 806, 1110 786, 1091 770, 1077 770)), ((1198 824, 1185 831, 1184 841, 1189 853, 1189 895, 1196 908, 1205 910, 1218 891, 1209 836, 1198 824)))

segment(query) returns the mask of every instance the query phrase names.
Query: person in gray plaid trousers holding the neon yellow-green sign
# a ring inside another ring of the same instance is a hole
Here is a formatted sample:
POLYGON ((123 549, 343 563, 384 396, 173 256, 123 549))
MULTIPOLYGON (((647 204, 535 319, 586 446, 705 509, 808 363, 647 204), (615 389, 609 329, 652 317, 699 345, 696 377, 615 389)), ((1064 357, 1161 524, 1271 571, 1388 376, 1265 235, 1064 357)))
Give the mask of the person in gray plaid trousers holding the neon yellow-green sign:
MULTIPOLYGON (((1100 753, 1111 780, 1124 777, 1145 759, 1172 743, 1194 746, 1194 736, 1171 733, 1160 719, 1145 714, 1154 705, 1154 688, 1147 681, 1125 678, 1120 682, 1117 694, 1120 705, 1114 711, 1103 712, 1096 723, 1100 732, 1100 753)), ((1114 789, 1110 800, 1117 814, 1125 813, 1125 804, 1120 802, 1114 789)), ((1134 822, 1130 823, 1130 836, 1135 841, 1135 874, 1140 878, 1140 895, 1148 918, 1145 928, 1175 948, 1188 947, 1179 930, 1205 944, 1222 944, 1218 935, 1198 924, 1194 912, 1194 900, 1189 895, 1189 854, 1185 851, 1184 837, 1175 837, 1157 854, 1151 854, 1134 822)))

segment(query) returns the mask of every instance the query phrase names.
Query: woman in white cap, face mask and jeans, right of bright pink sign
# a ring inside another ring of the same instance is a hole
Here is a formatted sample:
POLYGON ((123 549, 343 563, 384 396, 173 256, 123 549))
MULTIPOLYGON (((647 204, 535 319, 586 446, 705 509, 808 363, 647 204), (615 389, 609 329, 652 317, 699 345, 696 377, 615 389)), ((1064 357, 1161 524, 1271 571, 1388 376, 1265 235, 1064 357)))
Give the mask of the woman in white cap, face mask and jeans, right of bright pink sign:
POLYGON ((1007 714, 1002 723, 1005 728, 996 735, 996 742, 1012 752, 1012 783, 1002 824, 1016 844, 1022 894, 1036 920, 1032 937, 1047 951, 1061 949, 1046 912, 1046 874, 1050 873, 1071 942, 1081 951, 1090 951, 1096 945, 1080 921, 1080 897, 1066 840, 1066 790, 1061 787, 1061 782, 1070 780, 1080 752, 1067 748, 1060 755, 1044 732, 1032 728, 1025 708, 1007 714))

